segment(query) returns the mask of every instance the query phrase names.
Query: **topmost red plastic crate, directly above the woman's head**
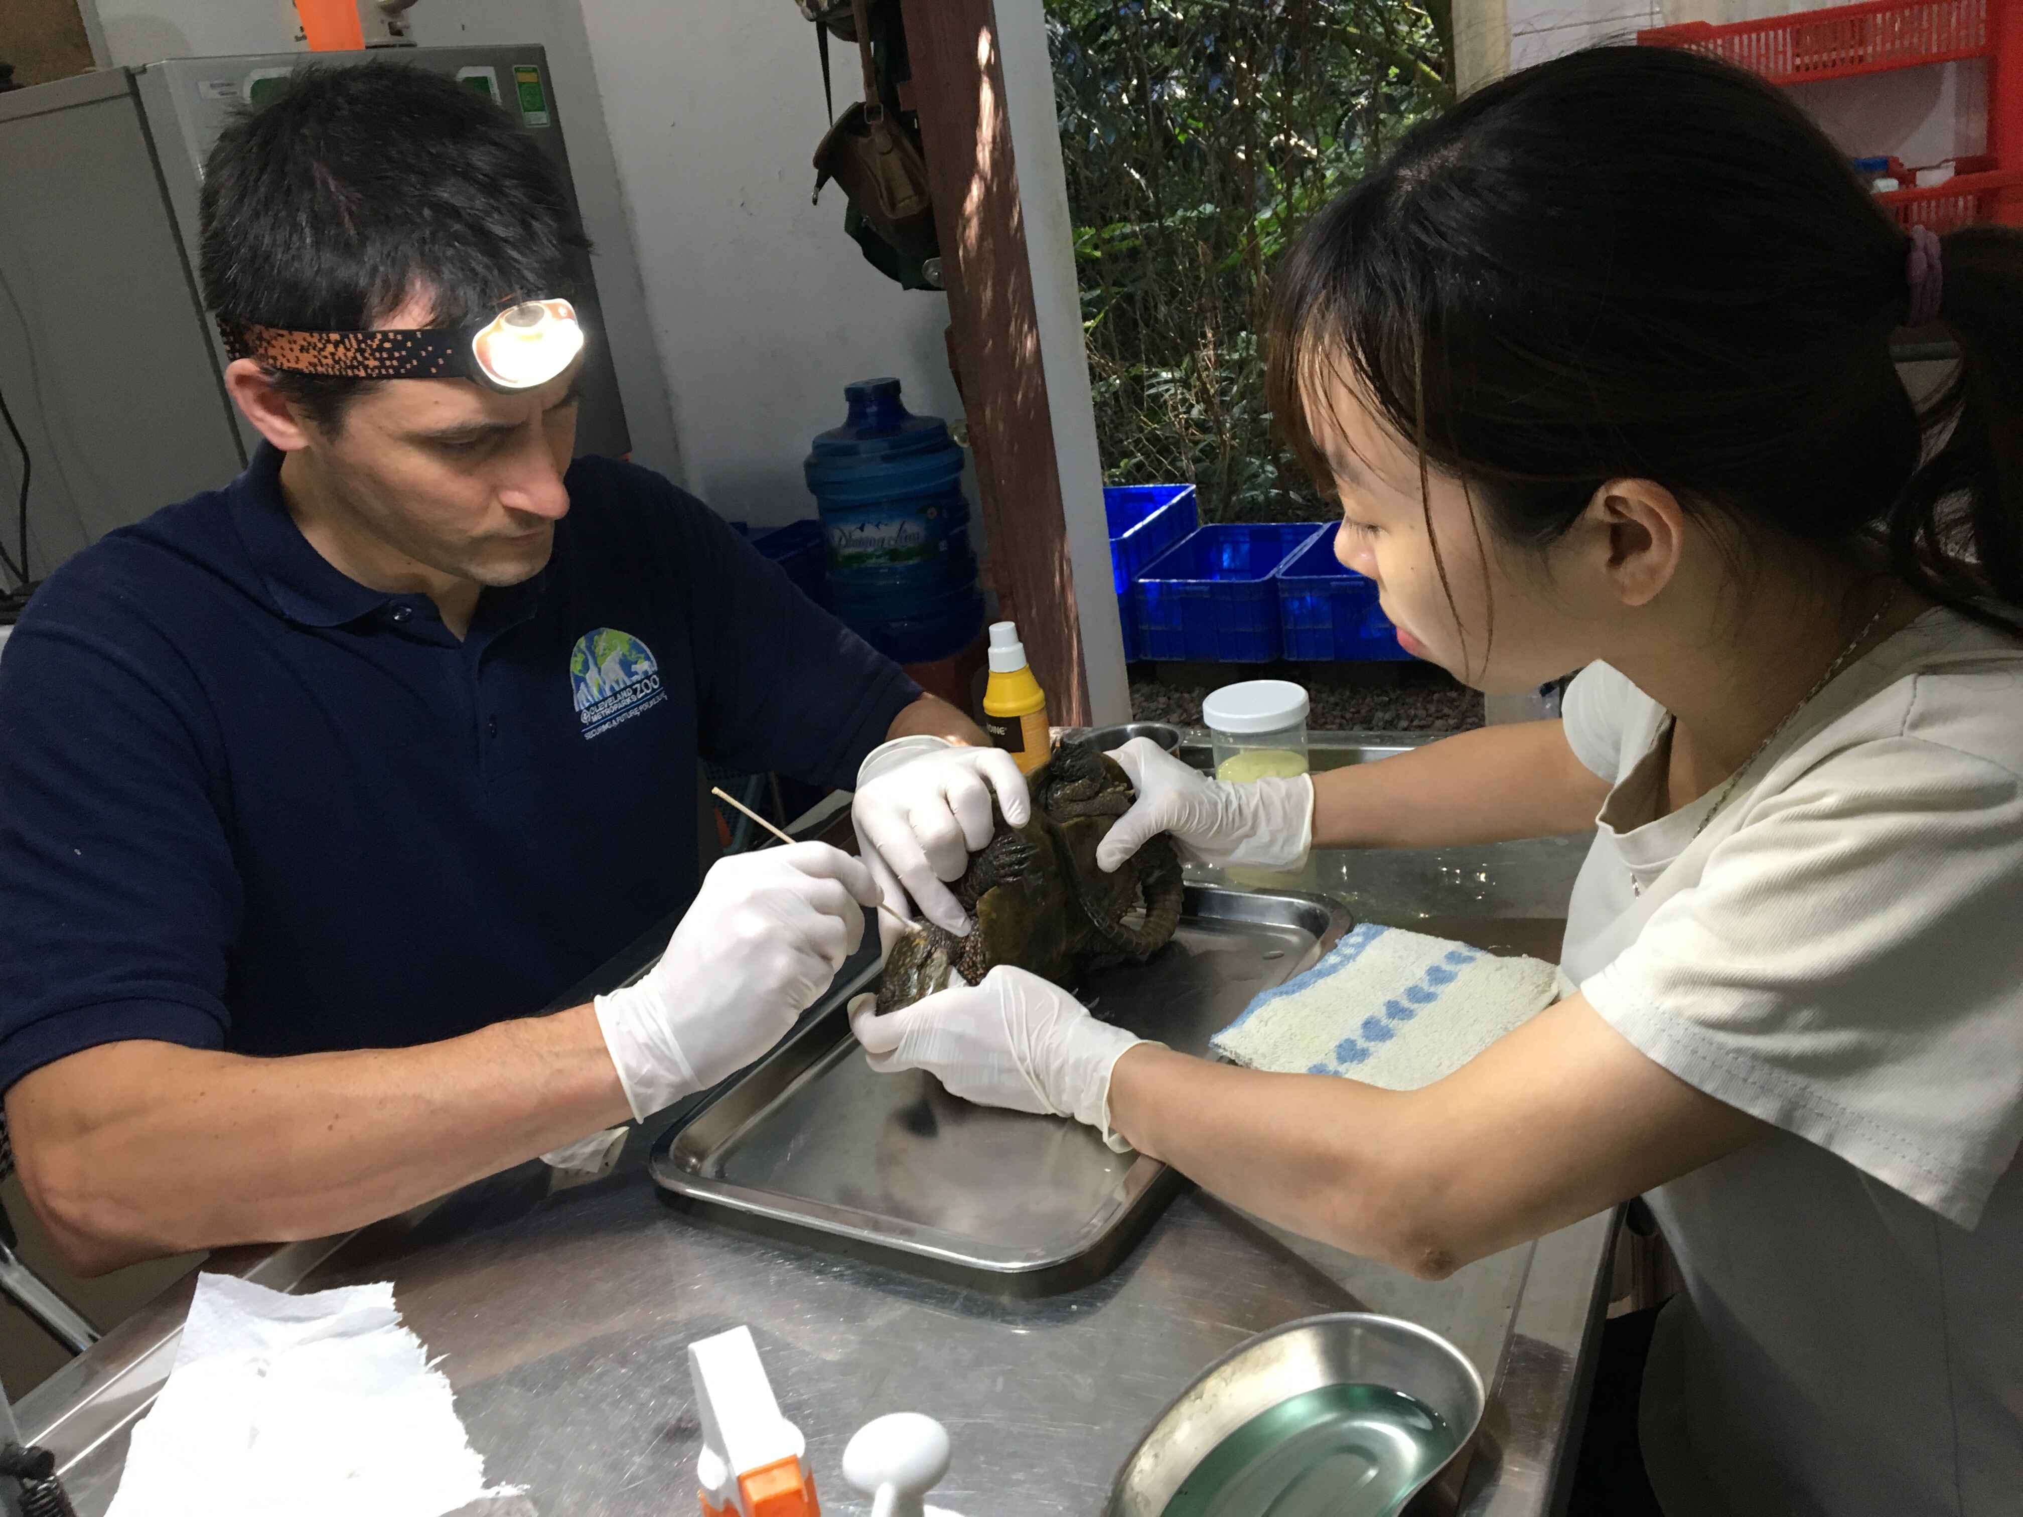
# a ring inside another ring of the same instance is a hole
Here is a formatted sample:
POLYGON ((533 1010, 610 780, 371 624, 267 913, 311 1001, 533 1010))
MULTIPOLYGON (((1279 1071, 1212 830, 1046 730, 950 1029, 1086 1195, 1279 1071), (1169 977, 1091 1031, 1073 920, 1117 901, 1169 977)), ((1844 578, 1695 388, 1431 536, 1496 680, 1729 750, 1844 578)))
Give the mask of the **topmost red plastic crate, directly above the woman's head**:
POLYGON ((1703 20, 1653 26, 1637 32, 1637 40, 1707 53, 1758 73, 1772 85, 1805 85, 1987 57, 1989 4, 1991 0, 1877 0, 1728 26, 1703 20))

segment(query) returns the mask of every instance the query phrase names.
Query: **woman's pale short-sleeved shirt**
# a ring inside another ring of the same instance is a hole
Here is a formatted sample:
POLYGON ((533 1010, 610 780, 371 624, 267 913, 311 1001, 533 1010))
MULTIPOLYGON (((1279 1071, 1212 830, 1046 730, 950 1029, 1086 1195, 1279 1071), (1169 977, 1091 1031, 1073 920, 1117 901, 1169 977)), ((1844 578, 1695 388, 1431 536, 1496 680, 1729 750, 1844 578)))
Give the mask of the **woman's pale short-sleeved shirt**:
POLYGON ((1687 1290, 1641 1438, 1667 1517, 2023 1513, 2023 647, 1930 611, 1713 795, 1608 665, 1564 989, 1774 1125, 1649 1195, 1687 1290))

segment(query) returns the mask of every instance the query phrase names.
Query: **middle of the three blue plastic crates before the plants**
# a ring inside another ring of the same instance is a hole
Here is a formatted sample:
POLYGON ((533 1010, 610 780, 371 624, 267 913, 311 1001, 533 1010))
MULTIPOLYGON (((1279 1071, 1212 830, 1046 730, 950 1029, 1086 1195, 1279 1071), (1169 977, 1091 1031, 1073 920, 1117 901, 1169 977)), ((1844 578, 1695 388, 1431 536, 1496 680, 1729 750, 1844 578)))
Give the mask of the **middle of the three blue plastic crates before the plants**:
POLYGON ((1133 585, 1151 659, 1268 663, 1279 657, 1279 581, 1287 558, 1331 528, 1313 522, 1222 522, 1190 532, 1133 585))

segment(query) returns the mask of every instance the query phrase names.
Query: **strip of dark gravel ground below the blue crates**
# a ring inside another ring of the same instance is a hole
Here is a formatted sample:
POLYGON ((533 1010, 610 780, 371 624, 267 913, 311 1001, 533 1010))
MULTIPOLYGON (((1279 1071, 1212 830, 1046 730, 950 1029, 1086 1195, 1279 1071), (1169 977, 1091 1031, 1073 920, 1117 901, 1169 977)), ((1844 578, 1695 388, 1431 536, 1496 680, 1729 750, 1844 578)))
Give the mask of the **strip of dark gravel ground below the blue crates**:
POLYGON ((1430 663, 1392 665, 1133 665, 1131 714, 1196 726, 1202 698, 1236 680, 1307 686, 1309 732, 1463 732, 1483 724, 1483 696, 1430 663))

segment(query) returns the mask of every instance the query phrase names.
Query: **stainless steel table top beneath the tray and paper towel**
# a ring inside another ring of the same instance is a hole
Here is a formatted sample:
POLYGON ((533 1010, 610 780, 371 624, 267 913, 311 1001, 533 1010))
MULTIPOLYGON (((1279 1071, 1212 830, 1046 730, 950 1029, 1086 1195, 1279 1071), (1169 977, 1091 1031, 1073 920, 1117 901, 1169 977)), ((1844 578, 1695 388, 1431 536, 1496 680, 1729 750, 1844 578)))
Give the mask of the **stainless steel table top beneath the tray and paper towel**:
MULTIPOLYGON (((1394 900, 1394 920, 1455 930, 1473 908, 1475 936, 1535 947, 1552 924, 1523 900, 1558 914, 1566 896, 1523 884, 1558 892, 1578 847, 1392 860, 1388 874, 1444 880, 1453 896, 1394 900)), ((1355 872, 1323 856, 1317 884, 1341 870, 1355 872)), ((840 1477, 850 1434, 918 1410, 955 1440, 937 1503, 971 1517, 1094 1517, 1125 1454, 1194 1375, 1252 1333, 1325 1311, 1408 1317, 1475 1359, 1491 1406, 1465 1513, 1564 1503, 1556 1479, 1606 1297, 1610 1216, 1424 1282, 1188 1191, 1107 1278, 1003 1301, 674 1212, 643 1175, 662 1127, 633 1133, 619 1167, 589 1185, 556 1189, 542 1165, 522 1165, 344 1238, 227 1250, 208 1268, 285 1290, 390 1278, 407 1323, 443 1357, 488 1479, 528 1487, 488 1503, 500 1517, 688 1511, 700 1436, 682 1349, 738 1323, 807 1434, 831 1513, 864 1511, 840 1477)), ((111 1501, 190 1288, 168 1290, 18 1406, 85 1517, 111 1501)))

